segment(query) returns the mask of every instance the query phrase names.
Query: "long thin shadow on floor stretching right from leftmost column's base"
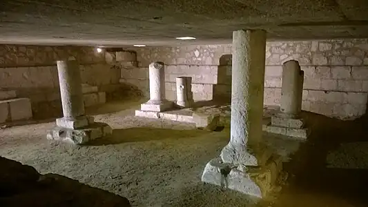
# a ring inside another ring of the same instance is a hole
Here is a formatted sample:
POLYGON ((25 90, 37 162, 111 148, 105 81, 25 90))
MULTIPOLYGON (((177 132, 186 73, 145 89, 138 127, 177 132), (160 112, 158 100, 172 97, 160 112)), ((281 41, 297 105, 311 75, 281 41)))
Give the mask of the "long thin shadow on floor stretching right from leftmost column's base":
POLYGON ((113 136, 97 139, 88 146, 122 144, 127 142, 157 141, 163 139, 188 139, 210 133, 206 130, 173 130, 168 128, 114 129, 113 136))

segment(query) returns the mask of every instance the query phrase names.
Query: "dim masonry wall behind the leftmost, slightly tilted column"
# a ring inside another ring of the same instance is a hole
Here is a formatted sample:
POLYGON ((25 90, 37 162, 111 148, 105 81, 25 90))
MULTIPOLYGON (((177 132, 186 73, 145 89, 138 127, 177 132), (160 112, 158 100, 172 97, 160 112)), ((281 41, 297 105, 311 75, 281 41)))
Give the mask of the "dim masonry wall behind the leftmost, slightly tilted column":
POLYGON ((80 63, 83 83, 110 91, 119 83, 120 70, 106 63, 95 48, 72 46, 0 45, 0 88, 28 97, 36 117, 61 114, 56 61, 73 56, 80 63))

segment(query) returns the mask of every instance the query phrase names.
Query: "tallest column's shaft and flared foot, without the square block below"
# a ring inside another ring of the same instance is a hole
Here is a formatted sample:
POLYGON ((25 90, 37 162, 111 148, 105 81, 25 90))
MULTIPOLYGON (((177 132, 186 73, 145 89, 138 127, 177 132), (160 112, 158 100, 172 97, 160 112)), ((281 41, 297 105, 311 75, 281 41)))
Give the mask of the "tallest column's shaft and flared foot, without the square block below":
POLYGON ((258 165, 246 148, 262 139, 265 48, 264 30, 233 32, 231 137, 221 153, 226 163, 258 165))

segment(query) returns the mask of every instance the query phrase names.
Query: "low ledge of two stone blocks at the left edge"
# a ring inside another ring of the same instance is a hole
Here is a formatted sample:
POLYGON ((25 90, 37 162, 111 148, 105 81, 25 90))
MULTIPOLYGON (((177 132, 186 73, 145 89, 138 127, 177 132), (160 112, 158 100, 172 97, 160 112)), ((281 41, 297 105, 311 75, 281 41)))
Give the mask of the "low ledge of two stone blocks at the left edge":
POLYGON ((8 99, 0 101, 0 123, 32 118, 30 99, 8 99))

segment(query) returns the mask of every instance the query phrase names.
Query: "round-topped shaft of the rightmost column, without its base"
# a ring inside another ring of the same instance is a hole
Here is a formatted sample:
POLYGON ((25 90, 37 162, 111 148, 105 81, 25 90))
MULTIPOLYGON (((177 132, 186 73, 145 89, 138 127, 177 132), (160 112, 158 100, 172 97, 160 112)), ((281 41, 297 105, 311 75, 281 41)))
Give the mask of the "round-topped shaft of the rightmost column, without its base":
POLYGON ((282 65, 281 116, 297 117, 302 109, 302 84, 304 72, 298 61, 290 60, 282 65))

